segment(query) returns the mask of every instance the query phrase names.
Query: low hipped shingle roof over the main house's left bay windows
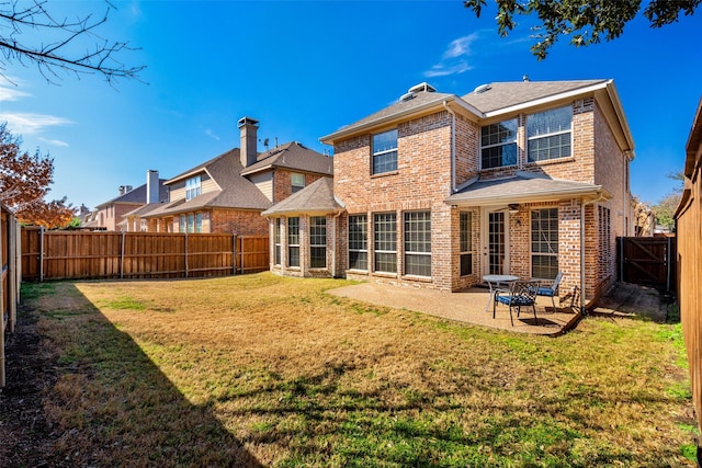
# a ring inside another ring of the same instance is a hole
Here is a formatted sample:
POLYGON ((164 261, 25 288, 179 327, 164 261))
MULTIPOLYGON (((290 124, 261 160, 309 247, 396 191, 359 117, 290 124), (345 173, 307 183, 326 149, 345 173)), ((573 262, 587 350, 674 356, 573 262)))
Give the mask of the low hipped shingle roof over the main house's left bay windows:
POLYGON ((271 206, 263 216, 275 216, 293 213, 329 214, 343 208, 343 204, 333 196, 333 181, 321 178, 297 193, 271 206))

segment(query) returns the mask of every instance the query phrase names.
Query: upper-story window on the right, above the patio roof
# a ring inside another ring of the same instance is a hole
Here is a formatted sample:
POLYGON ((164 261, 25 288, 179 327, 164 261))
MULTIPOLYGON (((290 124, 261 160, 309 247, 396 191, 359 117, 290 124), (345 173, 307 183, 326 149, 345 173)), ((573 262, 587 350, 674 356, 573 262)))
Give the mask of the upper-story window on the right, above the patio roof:
POLYGON ((573 110, 554 109, 526 117, 528 161, 547 161, 570 156, 573 110))

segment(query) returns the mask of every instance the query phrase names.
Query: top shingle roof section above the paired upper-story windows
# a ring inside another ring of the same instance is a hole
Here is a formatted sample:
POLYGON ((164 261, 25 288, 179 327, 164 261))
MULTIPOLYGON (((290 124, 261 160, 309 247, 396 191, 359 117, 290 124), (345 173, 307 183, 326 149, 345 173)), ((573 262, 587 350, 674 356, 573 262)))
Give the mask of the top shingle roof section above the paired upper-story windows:
POLYGON ((512 105, 524 104, 556 94, 576 91, 595 84, 604 84, 608 80, 580 81, 513 81, 489 83, 487 91, 473 91, 461 99, 483 113, 497 111, 512 105))

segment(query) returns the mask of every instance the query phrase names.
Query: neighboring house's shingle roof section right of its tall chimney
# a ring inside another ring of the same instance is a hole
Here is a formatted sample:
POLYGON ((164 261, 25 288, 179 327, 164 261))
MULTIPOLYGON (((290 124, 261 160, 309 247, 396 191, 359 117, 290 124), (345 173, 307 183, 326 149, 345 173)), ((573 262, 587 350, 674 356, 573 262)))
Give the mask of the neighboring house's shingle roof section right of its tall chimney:
POLYGON ((331 175, 333 160, 297 141, 291 141, 260 153, 257 162, 244 169, 241 175, 253 174, 270 168, 284 168, 331 175))

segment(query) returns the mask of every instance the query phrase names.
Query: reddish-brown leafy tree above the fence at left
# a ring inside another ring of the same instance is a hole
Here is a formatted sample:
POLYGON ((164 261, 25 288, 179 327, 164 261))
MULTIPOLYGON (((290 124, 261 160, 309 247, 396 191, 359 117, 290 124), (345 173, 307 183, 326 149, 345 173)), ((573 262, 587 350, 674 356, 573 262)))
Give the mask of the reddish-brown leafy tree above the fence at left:
POLYGON ((0 203, 12 209, 21 222, 46 228, 66 226, 75 216, 66 198, 46 202, 54 182, 54 160, 20 149, 21 138, 0 124, 0 203))

